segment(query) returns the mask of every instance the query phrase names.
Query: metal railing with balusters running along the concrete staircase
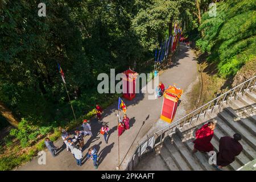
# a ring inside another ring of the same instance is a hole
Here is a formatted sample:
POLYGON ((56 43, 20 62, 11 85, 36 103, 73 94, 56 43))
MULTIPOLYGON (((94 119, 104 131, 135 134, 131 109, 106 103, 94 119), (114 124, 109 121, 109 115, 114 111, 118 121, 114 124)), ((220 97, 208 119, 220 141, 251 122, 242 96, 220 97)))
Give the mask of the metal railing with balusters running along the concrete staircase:
POLYGON ((135 166, 141 160, 141 156, 153 150, 154 147, 158 146, 163 142, 164 138, 166 138, 170 134, 174 134, 176 129, 180 129, 181 132, 184 129, 184 126, 191 126, 193 122, 197 122, 200 116, 205 117, 208 112, 213 112, 214 109, 221 110, 221 106, 226 102, 229 104, 230 100, 234 98, 236 100, 238 96, 242 94, 242 96, 249 90, 253 92, 254 87, 256 85, 256 76, 251 77, 249 80, 242 82, 240 85, 235 86, 234 88, 228 90, 225 93, 220 94, 220 96, 214 98, 212 101, 207 102, 203 106, 193 110, 191 113, 185 115, 184 117, 178 119, 175 122, 172 122, 170 125, 163 127, 163 129, 157 131, 151 137, 147 138, 139 144, 136 148, 133 157, 128 163, 126 170, 133 170, 135 166), (239 91, 238 91, 239 90, 239 91))

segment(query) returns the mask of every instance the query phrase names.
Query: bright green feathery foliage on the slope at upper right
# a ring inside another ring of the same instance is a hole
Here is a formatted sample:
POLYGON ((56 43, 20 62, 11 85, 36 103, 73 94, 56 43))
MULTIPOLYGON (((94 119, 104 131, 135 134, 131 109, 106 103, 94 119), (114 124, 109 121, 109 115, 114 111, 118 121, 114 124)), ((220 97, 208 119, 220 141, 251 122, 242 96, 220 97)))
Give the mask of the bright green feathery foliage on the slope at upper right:
POLYGON ((218 65, 221 76, 234 76, 247 61, 255 59, 256 1, 223 1, 217 3, 217 16, 203 14, 199 27, 204 32, 197 41, 209 61, 218 65))

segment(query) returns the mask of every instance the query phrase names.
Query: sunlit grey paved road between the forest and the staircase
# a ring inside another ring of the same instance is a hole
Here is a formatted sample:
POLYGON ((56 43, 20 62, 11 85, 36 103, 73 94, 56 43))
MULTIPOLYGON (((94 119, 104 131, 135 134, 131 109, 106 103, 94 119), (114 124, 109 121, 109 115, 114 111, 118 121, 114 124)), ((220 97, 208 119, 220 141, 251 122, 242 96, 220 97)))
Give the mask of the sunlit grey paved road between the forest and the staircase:
MULTIPOLYGON (((159 81, 162 81, 166 87, 175 83, 177 87, 186 90, 197 77, 198 73, 195 55, 190 48, 181 45, 177 55, 177 64, 162 73, 159 76, 159 81)), ((126 168, 127 162, 130 160, 138 142, 141 141, 156 122, 159 122, 158 120, 160 118, 163 99, 148 100, 147 96, 147 93, 137 94, 137 97, 135 97, 133 101, 124 100, 127 106, 127 116, 130 118, 130 130, 125 131, 125 133, 119 137, 121 148, 120 162, 122 162, 120 169, 126 168)), ((183 97, 181 96, 181 102, 182 98, 183 97)), ((105 109, 104 114, 102 115, 102 122, 107 123, 110 128, 108 144, 105 144, 103 135, 99 133, 101 123, 98 123, 96 119, 91 120, 92 133, 94 134, 93 137, 90 138, 87 136, 84 138, 84 156, 90 146, 96 147, 98 151, 98 161, 100 163, 98 170, 114 170, 118 165, 116 113, 117 102, 105 109)), ((177 115, 179 115, 179 113, 178 107, 177 115)), ((52 158, 50 152, 47 150, 46 165, 39 165, 38 158, 35 158, 31 160, 31 162, 19 167, 17 170, 96 170, 93 167, 92 160, 83 159, 83 165, 77 167, 71 152, 65 150, 63 140, 57 140, 55 146, 62 146, 59 155, 52 158)))

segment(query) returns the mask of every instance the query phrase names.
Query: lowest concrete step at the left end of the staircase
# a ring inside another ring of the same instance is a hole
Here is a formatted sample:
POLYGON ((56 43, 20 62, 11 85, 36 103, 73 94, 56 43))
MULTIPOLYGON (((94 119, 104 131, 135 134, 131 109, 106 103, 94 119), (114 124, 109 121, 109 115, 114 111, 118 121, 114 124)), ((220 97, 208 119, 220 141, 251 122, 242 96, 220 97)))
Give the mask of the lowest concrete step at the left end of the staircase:
POLYGON ((170 171, 179 171, 179 168, 176 166, 174 159, 172 159, 170 152, 163 144, 158 147, 158 151, 156 152, 160 155, 160 157, 166 163, 170 171))

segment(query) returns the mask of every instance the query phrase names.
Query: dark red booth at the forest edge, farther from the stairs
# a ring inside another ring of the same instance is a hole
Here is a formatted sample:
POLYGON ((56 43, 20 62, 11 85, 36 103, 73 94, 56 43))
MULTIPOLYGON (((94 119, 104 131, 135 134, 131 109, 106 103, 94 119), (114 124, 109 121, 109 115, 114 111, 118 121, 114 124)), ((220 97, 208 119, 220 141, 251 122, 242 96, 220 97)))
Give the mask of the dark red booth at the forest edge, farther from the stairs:
POLYGON ((123 97, 127 100, 133 100, 135 97, 137 75, 138 73, 130 68, 123 72, 123 97))

